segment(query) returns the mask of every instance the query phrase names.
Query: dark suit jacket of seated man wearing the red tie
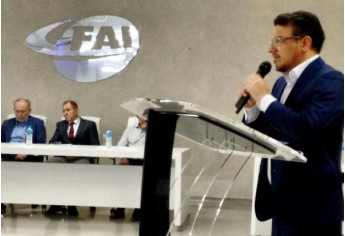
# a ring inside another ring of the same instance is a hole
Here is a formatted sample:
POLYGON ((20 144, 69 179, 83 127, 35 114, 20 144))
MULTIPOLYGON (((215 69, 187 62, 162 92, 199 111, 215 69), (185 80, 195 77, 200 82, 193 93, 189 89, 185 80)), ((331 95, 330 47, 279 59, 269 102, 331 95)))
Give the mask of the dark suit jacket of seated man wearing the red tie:
MULTIPOLYGON (((53 137, 49 143, 61 142, 62 144, 75 145, 100 145, 96 123, 91 120, 80 118, 80 124, 74 139, 68 139, 68 122, 66 120, 60 121, 56 124, 56 129, 53 137)), ((83 158, 83 157, 79 157, 83 158)), ((92 158, 87 158, 90 161, 92 158)))

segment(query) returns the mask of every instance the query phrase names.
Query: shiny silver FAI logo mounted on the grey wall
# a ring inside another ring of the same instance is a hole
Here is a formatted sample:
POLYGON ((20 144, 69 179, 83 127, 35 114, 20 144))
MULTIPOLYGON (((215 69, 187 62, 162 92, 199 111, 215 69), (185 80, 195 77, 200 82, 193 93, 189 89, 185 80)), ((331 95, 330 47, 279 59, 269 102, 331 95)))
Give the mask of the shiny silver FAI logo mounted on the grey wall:
POLYGON ((93 16, 47 25, 30 34, 26 45, 53 56, 56 69, 66 78, 96 82, 122 71, 133 60, 139 33, 121 17, 93 16))

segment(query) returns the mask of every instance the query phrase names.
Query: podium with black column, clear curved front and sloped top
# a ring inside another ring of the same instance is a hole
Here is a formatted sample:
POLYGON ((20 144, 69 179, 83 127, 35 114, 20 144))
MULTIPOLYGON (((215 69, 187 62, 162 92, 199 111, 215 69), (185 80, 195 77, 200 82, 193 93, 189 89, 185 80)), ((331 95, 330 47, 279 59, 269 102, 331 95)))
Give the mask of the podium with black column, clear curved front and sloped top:
POLYGON ((148 119, 141 188, 142 236, 172 232, 169 195, 175 182, 185 190, 177 211, 189 216, 188 226, 183 227, 185 235, 212 235, 241 171, 253 158, 307 161, 279 141, 196 104, 136 98, 121 106, 148 119), (170 179, 176 143, 192 151, 181 173, 170 179))

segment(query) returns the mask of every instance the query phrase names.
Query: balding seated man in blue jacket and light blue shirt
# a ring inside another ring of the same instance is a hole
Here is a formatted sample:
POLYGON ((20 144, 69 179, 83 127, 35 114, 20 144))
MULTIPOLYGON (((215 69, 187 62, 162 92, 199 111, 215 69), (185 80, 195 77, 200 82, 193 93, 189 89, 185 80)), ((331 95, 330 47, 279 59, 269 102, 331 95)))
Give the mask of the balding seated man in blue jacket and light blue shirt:
MULTIPOLYGON (((5 120, 1 126, 1 142, 3 143, 25 143, 25 132, 30 126, 33 130, 33 143, 46 142, 46 129, 41 119, 33 117, 31 113, 31 102, 25 98, 19 98, 13 102, 14 118, 5 120)), ((32 156, 25 154, 2 154, 2 161, 29 161, 43 162, 43 156, 32 156)), ((36 207, 36 205, 33 205, 36 207)), ((1 212, 4 213, 5 205, 1 205, 1 212)))

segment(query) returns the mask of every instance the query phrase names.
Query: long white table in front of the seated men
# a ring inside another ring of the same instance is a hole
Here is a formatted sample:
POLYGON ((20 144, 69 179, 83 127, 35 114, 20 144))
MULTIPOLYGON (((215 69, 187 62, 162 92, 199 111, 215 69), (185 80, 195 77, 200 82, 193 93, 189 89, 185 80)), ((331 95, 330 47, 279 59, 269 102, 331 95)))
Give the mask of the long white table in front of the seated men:
MULTIPOLYGON (((89 156, 99 158, 138 158, 143 147, 105 147, 68 144, 1 143, 3 154, 89 156)), ((183 195, 182 166, 189 149, 174 148, 170 209, 180 227, 188 212, 180 210, 183 195), (177 179, 174 181, 175 176, 177 179)), ((32 162, 1 162, 1 201, 3 203, 75 205, 140 208, 142 166, 85 165, 32 162)))

